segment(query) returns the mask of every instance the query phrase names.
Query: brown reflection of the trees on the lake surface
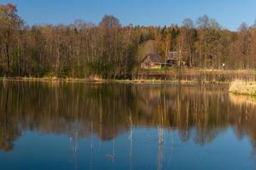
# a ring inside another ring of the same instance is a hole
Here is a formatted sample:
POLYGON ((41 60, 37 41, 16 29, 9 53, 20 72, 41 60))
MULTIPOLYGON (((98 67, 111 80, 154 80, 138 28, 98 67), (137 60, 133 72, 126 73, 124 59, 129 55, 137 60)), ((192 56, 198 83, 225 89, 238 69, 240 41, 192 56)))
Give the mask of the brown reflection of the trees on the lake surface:
POLYGON ((2 150, 12 148, 14 140, 26 129, 72 136, 75 128, 79 138, 92 132, 102 140, 113 139, 129 131, 131 119, 133 127, 177 129, 184 141, 192 137, 195 129, 193 136, 198 144, 211 142, 232 126, 238 137, 248 135, 253 145, 256 143, 256 106, 233 104, 229 94, 217 89, 1 82, 0 91, 2 150))

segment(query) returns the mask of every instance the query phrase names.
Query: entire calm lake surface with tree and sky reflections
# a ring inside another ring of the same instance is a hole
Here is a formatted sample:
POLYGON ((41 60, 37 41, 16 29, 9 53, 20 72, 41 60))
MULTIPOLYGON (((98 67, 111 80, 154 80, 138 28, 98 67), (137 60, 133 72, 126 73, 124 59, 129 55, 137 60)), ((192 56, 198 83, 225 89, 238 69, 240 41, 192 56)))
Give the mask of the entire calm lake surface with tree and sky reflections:
POLYGON ((0 169, 256 169, 256 99, 226 87, 0 82, 0 169))

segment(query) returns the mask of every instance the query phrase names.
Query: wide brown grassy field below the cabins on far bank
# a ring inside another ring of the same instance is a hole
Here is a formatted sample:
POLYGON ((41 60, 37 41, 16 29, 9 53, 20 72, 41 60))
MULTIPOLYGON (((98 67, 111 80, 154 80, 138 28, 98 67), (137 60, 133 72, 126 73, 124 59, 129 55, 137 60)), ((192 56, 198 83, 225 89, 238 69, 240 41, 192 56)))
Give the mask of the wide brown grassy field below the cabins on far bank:
POLYGON ((256 81, 256 70, 181 69, 139 71, 137 79, 182 80, 187 82, 256 81))

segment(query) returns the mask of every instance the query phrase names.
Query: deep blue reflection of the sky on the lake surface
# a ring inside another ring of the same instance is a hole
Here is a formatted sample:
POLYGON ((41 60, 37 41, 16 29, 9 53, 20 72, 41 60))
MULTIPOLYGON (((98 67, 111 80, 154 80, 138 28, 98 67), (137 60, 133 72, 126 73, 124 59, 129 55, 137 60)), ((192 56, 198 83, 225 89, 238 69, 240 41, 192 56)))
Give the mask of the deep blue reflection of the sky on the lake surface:
MULTIPOLYGON (((102 141, 96 136, 79 139, 75 156, 73 143, 67 135, 29 131, 15 142, 14 151, 0 152, 0 168, 156 169, 160 164, 163 169, 255 167, 249 140, 238 140, 231 127, 205 145, 195 144, 194 138, 184 142, 177 131, 169 130, 164 131, 164 143, 159 144, 158 132, 157 128, 134 128, 132 144, 129 132, 109 141, 102 141), (108 155, 114 155, 114 158, 108 155), (158 156, 162 157, 159 159, 158 156)), ((195 136, 194 132, 192 135, 195 136)))

